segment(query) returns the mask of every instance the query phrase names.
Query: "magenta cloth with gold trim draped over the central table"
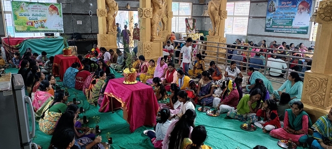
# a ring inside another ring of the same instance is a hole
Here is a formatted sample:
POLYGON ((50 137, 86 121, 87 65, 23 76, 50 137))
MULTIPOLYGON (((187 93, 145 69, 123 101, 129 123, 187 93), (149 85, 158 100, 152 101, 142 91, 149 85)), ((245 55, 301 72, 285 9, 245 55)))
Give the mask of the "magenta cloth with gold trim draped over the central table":
POLYGON ((130 132, 144 125, 156 125, 159 106, 153 88, 141 82, 131 85, 123 82, 124 78, 112 79, 108 82, 104 94, 115 97, 123 104, 124 109, 126 108, 130 132))

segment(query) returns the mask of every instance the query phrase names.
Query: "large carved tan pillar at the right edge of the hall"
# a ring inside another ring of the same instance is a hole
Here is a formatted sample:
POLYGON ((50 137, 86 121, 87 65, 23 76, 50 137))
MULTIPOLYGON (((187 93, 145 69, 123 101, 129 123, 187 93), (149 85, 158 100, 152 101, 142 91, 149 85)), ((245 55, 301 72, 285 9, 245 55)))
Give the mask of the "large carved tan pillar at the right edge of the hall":
POLYGON ((320 1, 315 54, 311 70, 305 71, 301 102, 304 110, 316 121, 332 107, 332 1, 320 1))

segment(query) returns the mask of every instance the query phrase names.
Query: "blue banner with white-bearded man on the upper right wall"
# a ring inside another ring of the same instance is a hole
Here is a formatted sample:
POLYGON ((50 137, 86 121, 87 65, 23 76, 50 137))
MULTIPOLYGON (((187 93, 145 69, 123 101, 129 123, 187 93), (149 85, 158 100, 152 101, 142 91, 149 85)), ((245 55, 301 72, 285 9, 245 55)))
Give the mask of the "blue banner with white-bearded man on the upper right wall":
POLYGON ((312 0, 269 0, 265 32, 307 34, 312 0))

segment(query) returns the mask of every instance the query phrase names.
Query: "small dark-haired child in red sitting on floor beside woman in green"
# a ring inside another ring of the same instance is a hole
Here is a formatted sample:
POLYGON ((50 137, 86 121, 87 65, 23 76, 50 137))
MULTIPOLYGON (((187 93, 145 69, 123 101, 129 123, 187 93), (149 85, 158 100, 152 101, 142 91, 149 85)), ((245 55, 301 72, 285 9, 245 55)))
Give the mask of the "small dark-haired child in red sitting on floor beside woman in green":
POLYGON ((264 121, 257 121, 254 124, 262 128, 265 133, 281 128, 277 109, 277 103, 274 100, 266 100, 262 109, 259 109, 256 113, 256 116, 264 117, 264 121))

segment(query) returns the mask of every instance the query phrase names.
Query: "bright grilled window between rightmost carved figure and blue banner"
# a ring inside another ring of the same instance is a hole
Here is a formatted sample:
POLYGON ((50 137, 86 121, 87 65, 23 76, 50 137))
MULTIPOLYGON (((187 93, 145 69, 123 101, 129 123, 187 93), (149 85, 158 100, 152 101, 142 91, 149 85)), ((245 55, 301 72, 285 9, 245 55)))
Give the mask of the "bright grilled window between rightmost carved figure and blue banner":
POLYGON ((247 35, 250 1, 227 2, 225 33, 247 35))

